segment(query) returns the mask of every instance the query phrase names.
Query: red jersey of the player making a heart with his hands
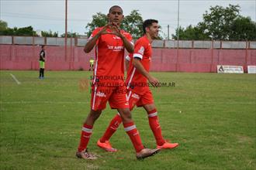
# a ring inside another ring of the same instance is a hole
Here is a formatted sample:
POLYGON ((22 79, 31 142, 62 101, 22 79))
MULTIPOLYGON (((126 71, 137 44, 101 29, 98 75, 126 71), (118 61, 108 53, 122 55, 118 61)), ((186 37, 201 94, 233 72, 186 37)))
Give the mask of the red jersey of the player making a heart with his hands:
MULTIPOLYGON (((95 29, 89 39, 92 39, 102 28, 95 29)), ((106 32, 111 32, 111 30, 106 29, 106 32)), ((132 36, 128 32, 121 30, 121 33, 126 36, 128 41, 132 42, 132 36)), ((124 76, 124 49, 123 40, 119 36, 104 34, 99 37, 95 45, 93 83, 97 81, 97 78, 100 82, 123 82, 120 77, 124 76)))

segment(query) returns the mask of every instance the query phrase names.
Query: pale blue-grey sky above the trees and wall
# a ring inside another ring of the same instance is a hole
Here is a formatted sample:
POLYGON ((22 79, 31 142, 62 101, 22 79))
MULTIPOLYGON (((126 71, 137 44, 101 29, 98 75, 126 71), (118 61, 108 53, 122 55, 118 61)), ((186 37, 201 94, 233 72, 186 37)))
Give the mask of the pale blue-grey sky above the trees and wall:
MULTIPOLYGON (((256 0, 180 0, 180 26, 195 26, 202 21, 202 14, 210 6, 229 4, 240 5, 240 15, 256 19, 256 0)), ((69 32, 85 34, 85 26, 92 21, 96 12, 107 14, 112 5, 120 5, 124 15, 133 9, 139 10, 143 19, 157 19, 162 26, 162 36, 167 36, 168 25, 170 36, 178 24, 178 0, 165 1, 87 1, 68 0, 69 32)), ((64 33, 64 0, 0 0, 0 19, 8 22, 9 27, 33 26, 35 30, 64 33)))

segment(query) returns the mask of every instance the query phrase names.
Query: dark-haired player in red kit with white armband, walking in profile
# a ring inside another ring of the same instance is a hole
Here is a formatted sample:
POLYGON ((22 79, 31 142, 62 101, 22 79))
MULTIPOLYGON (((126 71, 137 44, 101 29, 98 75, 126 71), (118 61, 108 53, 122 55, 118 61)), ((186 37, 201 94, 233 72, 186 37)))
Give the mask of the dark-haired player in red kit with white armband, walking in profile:
MULTIPOLYGON (((157 148, 171 149, 178 147, 178 143, 169 143, 164 140, 161 134, 161 127, 158 122, 157 109, 154 105, 154 99, 150 88, 147 86, 147 80, 154 87, 157 87, 158 80, 151 76, 150 61, 152 57, 151 42, 158 36, 158 22, 154 19, 147 19, 143 25, 144 36, 137 40, 134 46, 134 53, 126 56, 127 60, 130 60, 129 70, 126 79, 126 97, 129 100, 130 110, 133 107, 144 107, 147 111, 148 121, 150 128, 154 133, 154 138, 157 142, 157 148)), ((116 117, 112 119, 109 127, 106 129, 105 134, 99 139, 97 145, 106 151, 117 151, 116 148, 112 148, 109 138, 115 133, 119 124, 122 122, 120 114, 116 114, 116 117)))

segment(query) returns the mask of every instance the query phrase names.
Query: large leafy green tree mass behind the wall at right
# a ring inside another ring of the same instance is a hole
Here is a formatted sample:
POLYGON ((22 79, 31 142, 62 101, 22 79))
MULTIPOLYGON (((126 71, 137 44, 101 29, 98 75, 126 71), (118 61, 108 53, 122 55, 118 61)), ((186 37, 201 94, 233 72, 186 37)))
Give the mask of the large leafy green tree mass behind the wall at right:
POLYGON ((188 26, 185 29, 176 29, 173 39, 193 40, 256 40, 256 24, 249 17, 239 14, 239 5, 229 5, 224 8, 220 5, 210 7, 209 12, 203 14, 203 21, 197 26, 188 26))

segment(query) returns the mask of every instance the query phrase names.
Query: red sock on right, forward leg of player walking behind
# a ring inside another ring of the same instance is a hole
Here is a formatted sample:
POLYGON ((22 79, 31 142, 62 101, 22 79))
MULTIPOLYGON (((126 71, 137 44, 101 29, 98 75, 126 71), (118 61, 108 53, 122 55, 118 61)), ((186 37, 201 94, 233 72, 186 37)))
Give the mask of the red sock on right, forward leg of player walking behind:
POLYGON ((162 136, 161 126, 158 122, 157 110, 154 109, 147 112, 147 116, 148 116, 148 122, 150 124, 151 131, 153 131, 154 138, 157 141, 157 145, 159 146, 164 145, 165 141, 162 136))

